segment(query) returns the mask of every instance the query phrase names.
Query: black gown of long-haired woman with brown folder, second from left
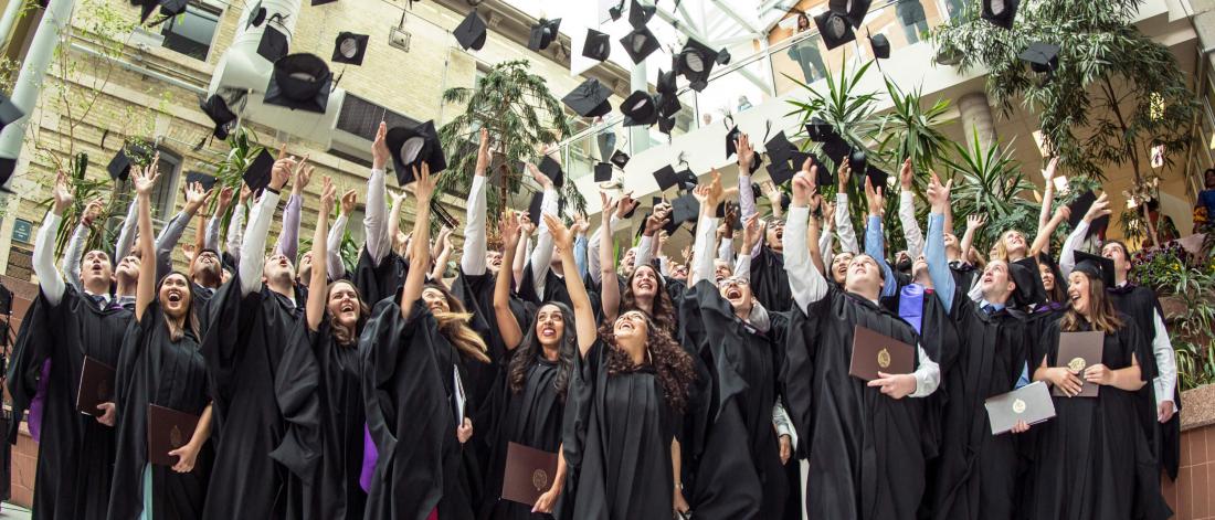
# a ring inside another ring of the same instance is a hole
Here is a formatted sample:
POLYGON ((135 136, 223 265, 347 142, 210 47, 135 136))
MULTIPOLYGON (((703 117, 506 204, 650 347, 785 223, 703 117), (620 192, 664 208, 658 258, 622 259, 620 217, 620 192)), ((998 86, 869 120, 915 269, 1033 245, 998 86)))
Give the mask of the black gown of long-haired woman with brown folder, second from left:
MULTIPOLYGON (((131 321, 118 368, 118 458, 109 494, 109 520, 135 520, 143 513, 143 471, 147 467, 147 408, 165 408, 202 416, 211 402, 207 362, 193 332, 174 341, 160 305, 153 301, 143 318, 131 321)), ((188 441, 188 439, 187 439, 188 441)), ((214 452, 205 443, 194 469, 181 474, 152 465, 152 515, 164 519, 200 519, 214 452)))

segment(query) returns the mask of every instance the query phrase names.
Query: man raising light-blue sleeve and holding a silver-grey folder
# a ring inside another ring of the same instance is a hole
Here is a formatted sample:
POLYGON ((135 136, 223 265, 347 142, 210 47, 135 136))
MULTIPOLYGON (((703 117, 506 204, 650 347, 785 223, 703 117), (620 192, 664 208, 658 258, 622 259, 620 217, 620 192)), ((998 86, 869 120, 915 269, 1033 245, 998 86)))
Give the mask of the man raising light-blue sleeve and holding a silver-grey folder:
MULTIPOLYGON (((1025 315, 1015 310, 1019 279, 1038 276, 1022 265, 991 260, 979 278, 982 300, 967 298, 945 256, 944 214, 949 188, 928 183, 928 236, 925 244, 934 294, 961 335, 959 349, 939 358, 944 380, 940 456, 933 463, 928 501, 936 519, 1012 519, 1017 509, 1017 439, 993 436, 988 397, 1012 391, 1029 357, 1025 315), (1019 272, 1018 271, 1023 271, 1019 272)), ((1027 284, 1028 286, 1028 284, 1027 284)), ((1022 423, 1013 434, 1028 430, 1022 423)))

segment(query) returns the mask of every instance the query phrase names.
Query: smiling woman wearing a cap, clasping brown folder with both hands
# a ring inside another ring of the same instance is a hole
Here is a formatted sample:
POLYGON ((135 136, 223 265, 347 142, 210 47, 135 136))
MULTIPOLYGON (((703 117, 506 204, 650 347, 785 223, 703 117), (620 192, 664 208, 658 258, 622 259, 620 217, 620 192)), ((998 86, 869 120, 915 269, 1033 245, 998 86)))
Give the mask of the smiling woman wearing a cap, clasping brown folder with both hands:
POLYGON ((1143 433, 1137 392, 1154 373, 1152 352, 1137 326, 1114 311, 1106 293, 1108 270, 1084 261, 1068 275, 1072 307, 1035 343, 1034 380, 1064 392, 1055 419, 1033 426, 1036 448, 1024 518, 1166 519, 1160 473, 1143 433), (1059 337, 1104 333, 1101 363, 1073 372, 1059 360, 1059 337), (1140 362, 1145 360, 1145 362, 1140 362), (1097 397, 1072 397, 1081 384, 1101 385, 1097 397))

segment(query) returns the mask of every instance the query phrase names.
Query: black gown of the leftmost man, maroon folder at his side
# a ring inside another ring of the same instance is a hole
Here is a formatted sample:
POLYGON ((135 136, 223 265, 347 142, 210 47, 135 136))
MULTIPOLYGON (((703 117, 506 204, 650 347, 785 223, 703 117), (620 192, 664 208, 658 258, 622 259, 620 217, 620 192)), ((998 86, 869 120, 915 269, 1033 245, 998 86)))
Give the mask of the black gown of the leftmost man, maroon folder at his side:
MULTIPOLYGON (((38 519, 104 519, 114 465, 114 429, 75 409, 80 371, 89 356, 118 367, 131 311, 111 304, 101 309, 89 295, 67 284, 58 305, 39 290, 22 324, 9 367, 13 417, 22 417, 38 391, 43 363, 50 380, 43 402, 43 430, 34 476, 38 519)), ((19 420, 10 426, 16 443, 19 420)))

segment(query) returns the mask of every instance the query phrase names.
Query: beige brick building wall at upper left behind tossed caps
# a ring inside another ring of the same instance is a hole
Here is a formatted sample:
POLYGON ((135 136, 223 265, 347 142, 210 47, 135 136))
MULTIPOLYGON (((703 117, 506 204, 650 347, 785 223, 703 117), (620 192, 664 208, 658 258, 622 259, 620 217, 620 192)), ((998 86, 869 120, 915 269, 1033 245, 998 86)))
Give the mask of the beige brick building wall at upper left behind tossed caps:
MULTIPOLYGON (((90 0, 78 0, 85 6, 90 0)), ((103 0, 91 0, 103 1, 103 0)), ((215 4, 215 2, 211 2, 215 4)), ((140 41, 136 34, 124 46, 122 60, 149 69, 157 77, 128 70, 106 58, 90 56, 78 49, 68 50, 72 61, 69 74, 60 74, 58 67, 51 68, 46 81, 53 86, 67 86, 67 98, 60 96, 57 87, 44 87, 38 107, 32 119, 32 130, 27 134, 22 162, 28 162, 28 170, 19 173, 13 187, 17 197, 9 198, 4 226, 0 227, 0 273, 12 270, 13 276, 28 277, 28 254, 32 244, 12 241, 15 219, 33 224, 30 241, 36 233, 45 214, 41 202, 50 197, 50 183, 53 180, 55 162, 52 157, 69 157, 73 153, 86 152, 90 157, 89 176, 102 179, 106 164, 122 146, 125 136, 164 137, 166 148, 183 157, 183 170, 196 169, 200 163, 210 163, 227 153, 227 146, 219 141, 208 141, 194 151, 193 147, 210 134, 209 119, 197 108, 198 95, 187 87, 175 86, 164 78, 196 89, 205 89, 224 50, 231 44, 241 19, 239 7, 243 2, 226 2, 227 7, 216 30, 207 61, 177 53, 158 46, 140 46, 130 41, 140 41), (96 103, 81 117, 81 103, 91 100, 89 92, 100 90, 96 103), (70 113, 70 115, 69 115, 70 113), (69 131, 69 121, 79 121, 69 131), (102 142, 102 136, 106 136, 102 142)), ((345 1, 327 6, 311 7, 304 4, 292 41, 294 51, 310 51, 328 60, 332 55, 333 40, 341 30, 369 34, 371 43, 367 58, 362 67, 344 67, 337 64, 334 73, 341 73, 340 86, 346 91, 383 104, 390 109, 418 120, 448 120, 460 111, 460 107, 443 107, 442 91, 452 86, 473 86, 477 64, 490 66, 505 60, 527 58, 536 73, 549 80, 549 87, 558 97, 564 96, 582 81, 572 77, 565 66, 544 56, 527 51, 525 45, 509 41, 504 35, 492 32, 485 47, 475 53, 459 49, 451 29, 463 13, 429 2, 418 2, 411 11, 406 29, 412 34, 409 51, 389 46, 389 30, 401 19, 401 9, 384 1, 345 1), (355 5, 357 4, 357 9, 355 5)), ((126 2, 111 2, 123 10, 130 19, 137 18, 137 11, 126 2)), ((83 47, 95 47, 96 36, 89 34, 94 19, 86 9, 78 9, 73 19, 75 35, 73 43, 83 47)), ((159 27, 148 29, 159 33, 159 27)), ((125 38, 125 35, 124 35, 125 38)), ((617 100, 618 101, 618 100, 617 100)), ((279 135, 258 125, 249 126, 262 143, 273 145, 281 139, 289 142, 295 154, 309 154, 317 166, 317 175, 335 176, 339 186, 354 187, 360 192, 362 205, 366 168, 326 153, 317 145, 298 142, 287 135, 279 135)), ((369 146, 369 142, 368 142, 369 146)), ((369 153, 366 157, 369 159, 369 153)), ((21 169, 18 169, 21 171, 21 169)), ((454 174, 454 173, 450 173, 454 174)), ((180 182, 176 186, 180 188, 180 182)), ((300 236, 311 237, 316 219, 316 193, 320 180, 309 186, 300 236)), ((390 188, 395 181, 390 181, 390 188)), ((456 207, 451 213, 463 219, 462 200, 448 200, 456 207)), ((181 207, 177 198, 176 208, 181 207)), ((411 219, 406 211, 406 219, 411 219)), ((168 219, 170 215, 157 215, 168 219)), ((412 220, 409 220, 412 221, 412 220)), ((357 226, 358 222, 352 222, 357 226)), ((277 222, 272 228, 277 234, 277 222)), ((186 241, 193 238, 193 225, 186 241)), ((179 262, 181 261, 179 255, 179 262)))

